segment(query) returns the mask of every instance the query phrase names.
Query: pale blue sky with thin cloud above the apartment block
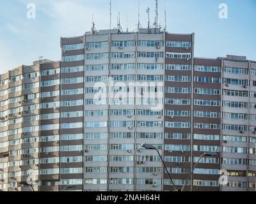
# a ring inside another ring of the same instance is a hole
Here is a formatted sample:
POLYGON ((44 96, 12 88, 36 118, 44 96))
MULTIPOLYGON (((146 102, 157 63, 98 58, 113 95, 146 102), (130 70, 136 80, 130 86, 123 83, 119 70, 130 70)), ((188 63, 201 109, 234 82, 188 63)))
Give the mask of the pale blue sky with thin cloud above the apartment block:
MULTIPOLYGON (((147 26, 147 7, 154 20, 154 0, 140 0, 141 25, 147 26)), ((120 11, 125 30, 136 29, 138 0, 112 0, 113 25, 120 11), (128 19, 128 24, 127 24, 128 19)), ((195 33, 196 57, 246 55, 256 60, 255 0, 166 0, 170 33, 195 33), (228 6, 220 19, 219 4, 228 6)), ((59 60, 60 37, 79 36, 92 27, 109 28, 108 0, 1 0, 0 73, 20 64, 31 64, 42 55, 59 60), (35 3, 36 19, 26 17, 28 3, 35 3)), ((159 0, 159 22, 164 25, 164 0, 159 0)))

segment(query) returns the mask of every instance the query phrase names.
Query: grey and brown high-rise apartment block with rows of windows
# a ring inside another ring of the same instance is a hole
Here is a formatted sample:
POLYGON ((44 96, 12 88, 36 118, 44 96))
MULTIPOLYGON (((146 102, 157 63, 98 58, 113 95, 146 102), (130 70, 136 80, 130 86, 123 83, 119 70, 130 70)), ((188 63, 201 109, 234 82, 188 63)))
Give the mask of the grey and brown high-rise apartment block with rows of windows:
POLYGON ((195 57, 194 34, 159 29, 88 32, 61 50, 0 76, 0 189, 173 191, 147 143, 177 189, 216 152, 185 191, 255 191, 256 62, 195 57))

